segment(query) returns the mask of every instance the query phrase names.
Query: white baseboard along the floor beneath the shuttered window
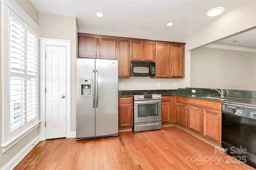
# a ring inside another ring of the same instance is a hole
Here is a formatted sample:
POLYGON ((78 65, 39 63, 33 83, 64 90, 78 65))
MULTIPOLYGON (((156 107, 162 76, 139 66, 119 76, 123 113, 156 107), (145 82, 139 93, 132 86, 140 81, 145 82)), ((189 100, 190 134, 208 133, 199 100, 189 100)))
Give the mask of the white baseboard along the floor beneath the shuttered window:
POLYGON ((1 170, 12 170, 36 144, 40 141, 40 135, 36 136, 25 148, 23 148, 12 160, 10 160, 1 170))

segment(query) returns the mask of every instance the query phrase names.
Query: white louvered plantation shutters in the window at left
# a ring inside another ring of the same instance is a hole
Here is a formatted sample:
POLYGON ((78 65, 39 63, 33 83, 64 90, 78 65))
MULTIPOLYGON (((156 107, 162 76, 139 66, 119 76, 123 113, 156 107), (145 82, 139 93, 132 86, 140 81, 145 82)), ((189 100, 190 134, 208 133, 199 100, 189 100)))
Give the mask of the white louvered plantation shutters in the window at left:
POLYGON ((9 10, 9 140, 39 121, 38 33, 9 10))

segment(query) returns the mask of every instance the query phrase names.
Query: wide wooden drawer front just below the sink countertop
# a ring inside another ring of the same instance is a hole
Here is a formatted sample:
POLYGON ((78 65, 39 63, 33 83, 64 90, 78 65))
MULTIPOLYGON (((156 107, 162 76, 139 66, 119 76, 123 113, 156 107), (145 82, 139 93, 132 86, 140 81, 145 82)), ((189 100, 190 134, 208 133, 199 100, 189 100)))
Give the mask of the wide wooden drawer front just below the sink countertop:
POLYGON ((221 103, 220 102, 188 98, 188 104, 204 107, 206 109, 214 109, 216 111, 221 111, 221 103))

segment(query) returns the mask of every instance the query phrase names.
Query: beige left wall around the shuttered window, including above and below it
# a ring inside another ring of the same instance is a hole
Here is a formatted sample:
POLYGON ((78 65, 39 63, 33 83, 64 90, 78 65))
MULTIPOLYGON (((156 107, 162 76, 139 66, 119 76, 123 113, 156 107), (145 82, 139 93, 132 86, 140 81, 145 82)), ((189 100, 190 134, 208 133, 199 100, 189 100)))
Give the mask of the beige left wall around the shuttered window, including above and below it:
MULTIPOLYGON (((18 0, 15 1, 27 14, 30 16, 36 24, 38 24, 38 11, 34 8, 28 0, 18 0)), ((2 6, 2 2, 0 3, 0 9, 2 6)), ((0 12, 2 14, 2 12, 0 12)), ((1 20, 1 18, 0 18, 1 20)), ((2 22, 0 22, 2 23, 2 22)), ((0 32, 2 32, 2 26, 0 26, 0 32)), ((2 35, 0 35, 0 41, 2 42, 2 35)), ((2 45, 2 43, 0 43, 2 45)), ((0 69, 2 74, 2 50, 0 45, 0 69)), ((0 74, 0 80, 2 80, 2 75, 0 74)), ((2 89, 2 82, 0 84, 0 89, 2 89)), ((0 91, 0 101, 2 101, 2 91, 0 91)), ((0 102, 0 127, 2 129, 2 103, 0 102)), ((27 146, 36 136, 39 135, 39 127, 33 130, 30 134, 25 136, 22 140, 20 140, 17 144, 15 144, 12 148, 6 151, 4 154, 2 153, 2 149, 0 151, 0 169, 5 166, 10 160, 14 158, 25 146, 27 146)), ((0 130, 0 145, 2 145, 2 130, 0 130)))

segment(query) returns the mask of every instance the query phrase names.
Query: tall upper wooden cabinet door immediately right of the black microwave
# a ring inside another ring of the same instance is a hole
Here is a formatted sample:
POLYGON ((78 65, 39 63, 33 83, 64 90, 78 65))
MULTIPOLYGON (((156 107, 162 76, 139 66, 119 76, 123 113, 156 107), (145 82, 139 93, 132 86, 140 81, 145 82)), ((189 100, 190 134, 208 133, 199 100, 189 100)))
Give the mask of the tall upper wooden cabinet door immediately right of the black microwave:
POLYGON ((169 77, 170 45, 156 43, 156 78, 169 77))

